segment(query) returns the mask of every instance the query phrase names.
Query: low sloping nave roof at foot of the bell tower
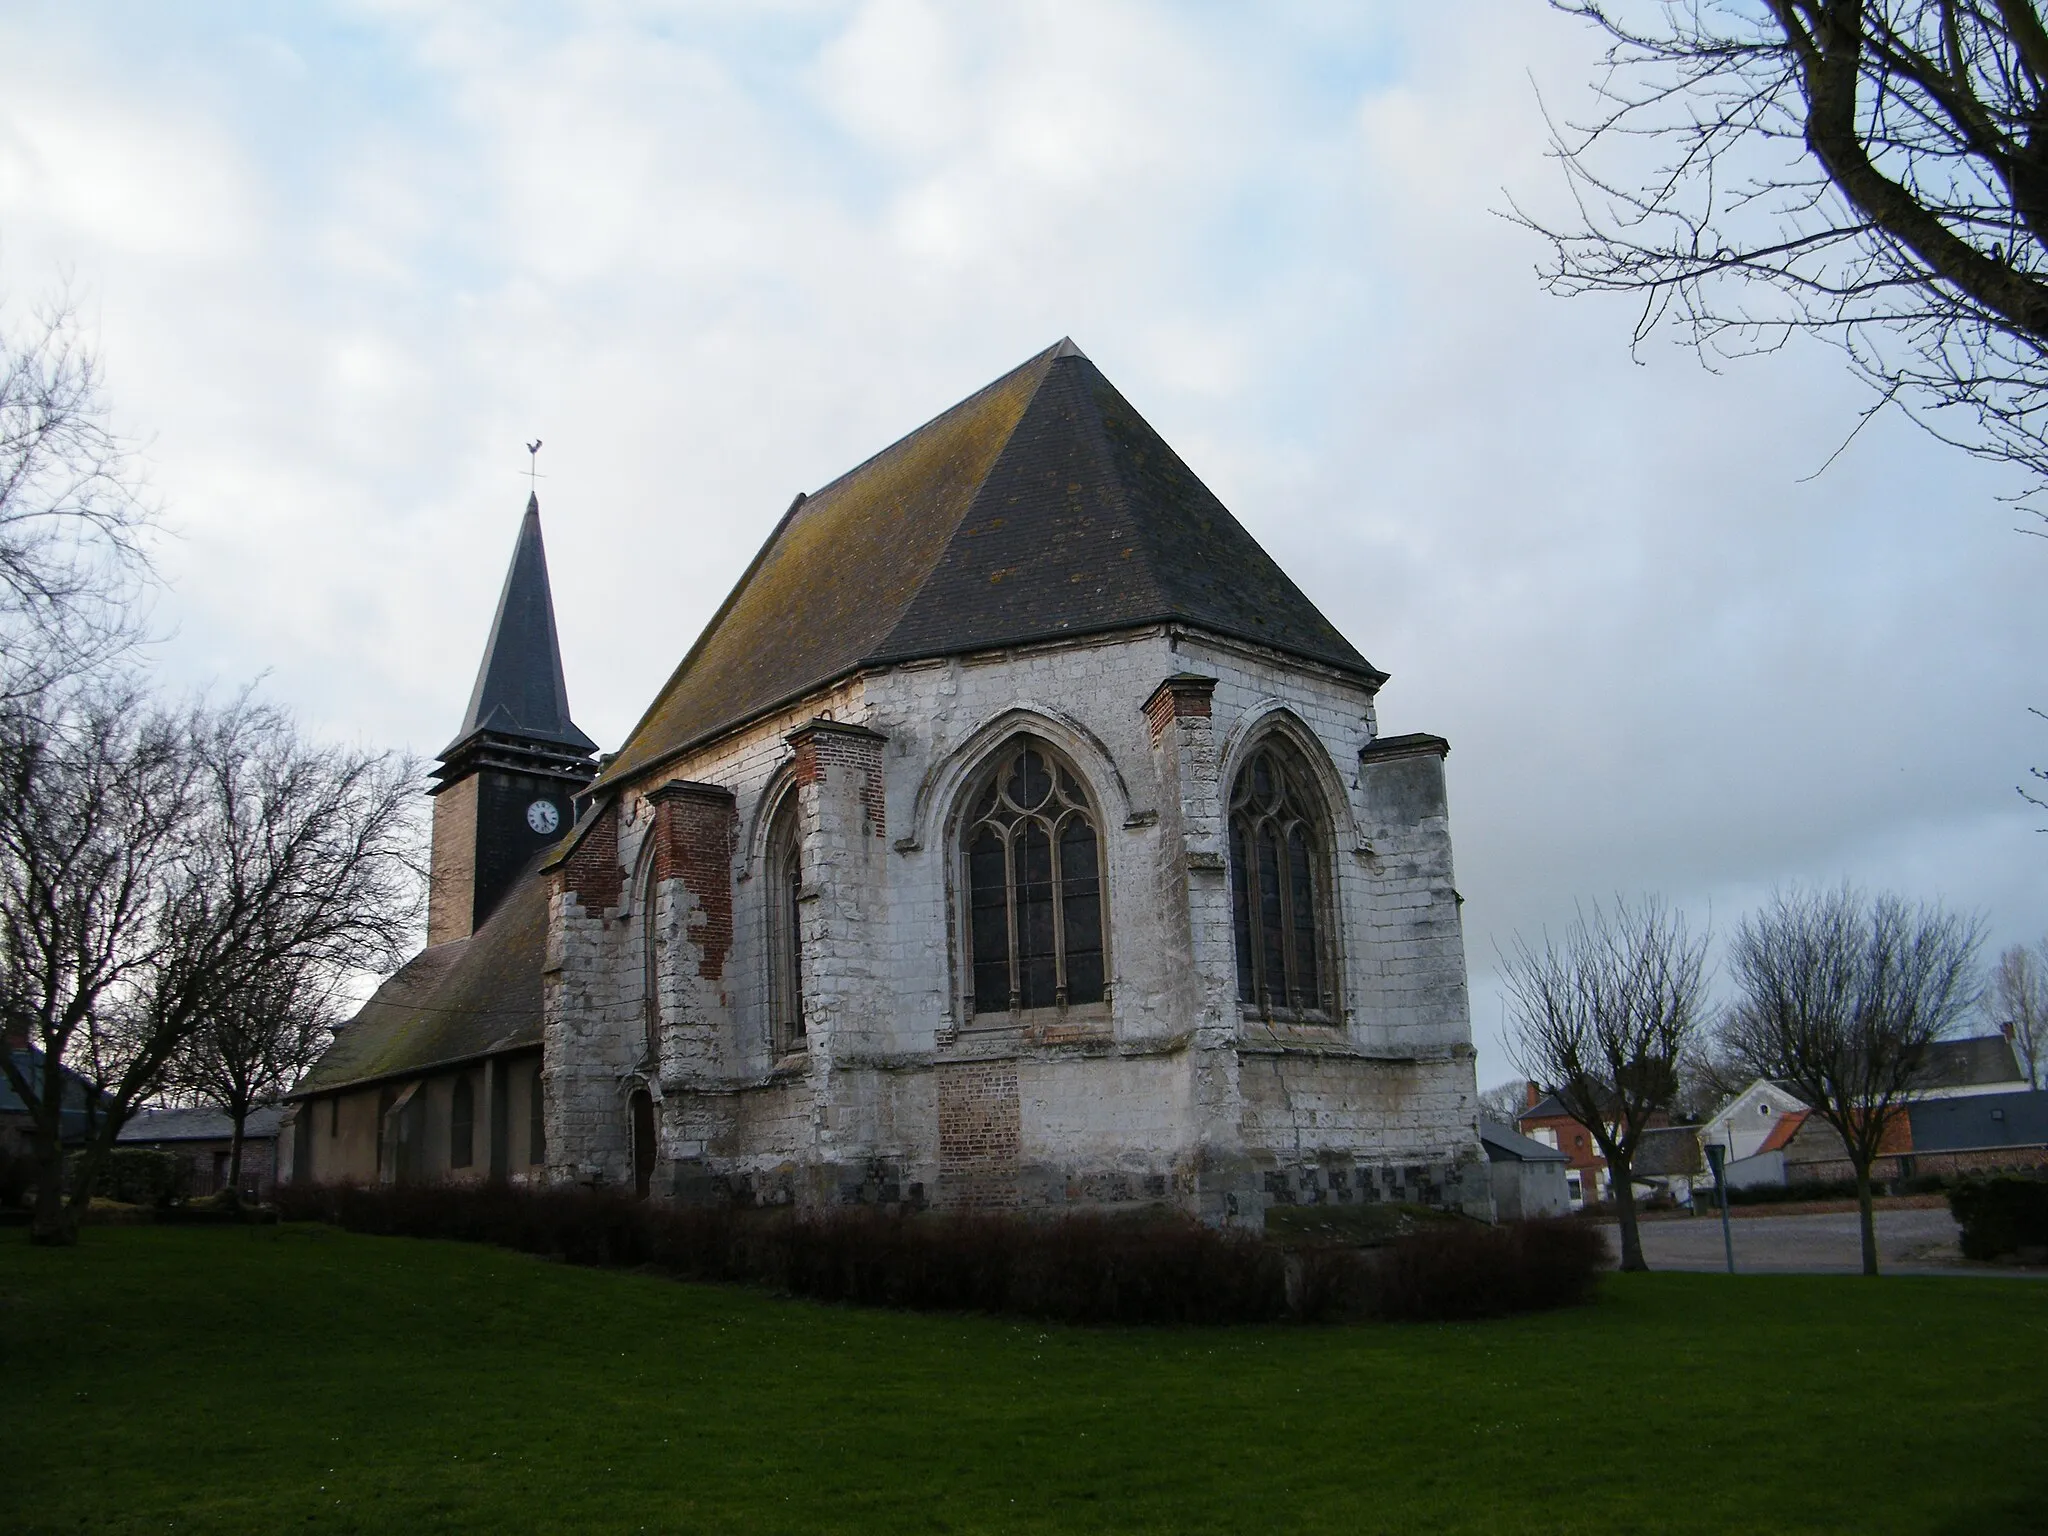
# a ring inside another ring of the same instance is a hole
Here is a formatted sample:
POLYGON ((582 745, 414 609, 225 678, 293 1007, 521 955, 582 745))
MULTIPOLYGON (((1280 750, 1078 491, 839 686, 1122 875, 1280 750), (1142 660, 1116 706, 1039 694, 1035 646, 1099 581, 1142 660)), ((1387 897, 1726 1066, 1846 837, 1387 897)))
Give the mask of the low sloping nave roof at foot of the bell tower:
POLYGON ((537 858, 475 934, 420 950, 385 981, 289 1098, 541 1044, 545 958, 537 858))

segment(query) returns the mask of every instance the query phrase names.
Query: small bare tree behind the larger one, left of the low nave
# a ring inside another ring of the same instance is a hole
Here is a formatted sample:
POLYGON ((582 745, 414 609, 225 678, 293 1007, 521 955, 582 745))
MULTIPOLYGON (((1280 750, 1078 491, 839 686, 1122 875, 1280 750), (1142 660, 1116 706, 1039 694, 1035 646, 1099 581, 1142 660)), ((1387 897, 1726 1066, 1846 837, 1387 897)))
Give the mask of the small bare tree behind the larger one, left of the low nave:
POLYGON ((166 1087, 221 1110, 233 1126, 227 1200, 240 1200, 250 1112, 276 1100, 319 1061, 334 1040, 340 1001, 332 975, 287 958, 231 989, 172 1057, 166 1087))

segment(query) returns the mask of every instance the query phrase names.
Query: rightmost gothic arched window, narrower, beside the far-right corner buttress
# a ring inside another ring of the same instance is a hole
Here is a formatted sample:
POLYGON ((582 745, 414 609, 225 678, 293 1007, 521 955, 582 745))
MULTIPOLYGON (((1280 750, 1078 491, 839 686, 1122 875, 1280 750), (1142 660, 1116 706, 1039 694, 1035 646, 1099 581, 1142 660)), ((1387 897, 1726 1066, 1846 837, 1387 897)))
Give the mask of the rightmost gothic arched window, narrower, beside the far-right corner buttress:
POLYGON ((1319 803, 1307 766, 1280 741, 1260 745, 1231 786, 1237 1001, 1268 1016, 1331 1012, 1319 803))

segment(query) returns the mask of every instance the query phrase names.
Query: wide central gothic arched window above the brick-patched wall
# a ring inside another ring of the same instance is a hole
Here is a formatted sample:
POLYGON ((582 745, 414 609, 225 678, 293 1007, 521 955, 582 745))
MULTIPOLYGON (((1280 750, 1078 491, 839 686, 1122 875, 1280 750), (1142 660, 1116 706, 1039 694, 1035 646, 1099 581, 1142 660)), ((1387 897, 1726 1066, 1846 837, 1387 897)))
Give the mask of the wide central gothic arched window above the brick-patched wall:
POLYGON ((1081 780, 1020 735, 967 803, 973 1012, 1100 1004, 1102 850, 1081 780))

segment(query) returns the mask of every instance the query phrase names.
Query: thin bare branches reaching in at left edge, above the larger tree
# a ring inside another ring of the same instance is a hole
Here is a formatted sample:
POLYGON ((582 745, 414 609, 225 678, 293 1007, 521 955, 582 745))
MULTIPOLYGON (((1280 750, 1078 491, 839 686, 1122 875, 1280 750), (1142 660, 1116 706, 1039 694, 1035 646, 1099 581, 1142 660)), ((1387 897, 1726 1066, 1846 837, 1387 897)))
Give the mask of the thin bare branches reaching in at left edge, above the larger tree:
POLYGON ((135 639, 152 522, 137 487, 70 303, 0 322, 0 698, 135 639))

